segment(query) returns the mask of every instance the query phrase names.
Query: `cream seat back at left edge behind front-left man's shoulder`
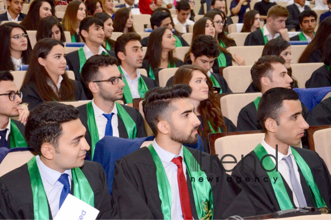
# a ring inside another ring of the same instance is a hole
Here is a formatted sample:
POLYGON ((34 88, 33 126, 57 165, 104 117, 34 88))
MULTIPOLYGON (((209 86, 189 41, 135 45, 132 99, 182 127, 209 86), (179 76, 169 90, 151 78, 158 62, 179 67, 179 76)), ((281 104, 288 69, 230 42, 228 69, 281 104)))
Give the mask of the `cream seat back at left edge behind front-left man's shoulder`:
POLYGON ((0 176, 27 163, 37 152, 30 150, 9 152, 0 163, 0 176))

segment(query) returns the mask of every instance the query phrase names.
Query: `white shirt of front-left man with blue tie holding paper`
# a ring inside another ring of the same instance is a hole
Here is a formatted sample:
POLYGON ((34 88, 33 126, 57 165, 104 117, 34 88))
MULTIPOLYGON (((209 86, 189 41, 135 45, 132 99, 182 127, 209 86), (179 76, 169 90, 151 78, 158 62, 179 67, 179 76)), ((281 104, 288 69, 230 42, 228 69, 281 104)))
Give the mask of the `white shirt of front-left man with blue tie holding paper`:
MULTIPOLYGON (((54 169, 51 169, 50 167, 45 165, 41 161, 39 155, 36 158, 37 158, 37 166, 47 195, 47 200, 48 203, 50 204, 52 216, 54 219, 59 211, 60 196, 61 196, 61 191, 63 189, 63 184, 58 181, 62 173, 54 169)), ((67 173, 69 175, 68 180, 71 188, 71 179, 72 179, 71 169, 67 169, 63 173, 67 173)))

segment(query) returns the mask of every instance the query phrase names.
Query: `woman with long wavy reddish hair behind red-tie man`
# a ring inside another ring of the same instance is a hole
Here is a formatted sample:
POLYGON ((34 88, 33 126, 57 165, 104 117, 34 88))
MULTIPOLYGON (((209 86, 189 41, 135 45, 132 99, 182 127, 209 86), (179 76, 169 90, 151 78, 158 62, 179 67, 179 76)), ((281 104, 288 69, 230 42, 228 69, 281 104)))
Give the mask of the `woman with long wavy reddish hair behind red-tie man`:
POLYGON ((214 93, 213 82, 203 68, 197 65, 181 66, 174 75, 172 85, 182 83, 192 87, 190 101, 195 108, 194 113, 201 121, 198 132, 204 142, 205 151, 210 153, 209 133, 237 131, 237 127, 223 116, 220 102, 214 93))

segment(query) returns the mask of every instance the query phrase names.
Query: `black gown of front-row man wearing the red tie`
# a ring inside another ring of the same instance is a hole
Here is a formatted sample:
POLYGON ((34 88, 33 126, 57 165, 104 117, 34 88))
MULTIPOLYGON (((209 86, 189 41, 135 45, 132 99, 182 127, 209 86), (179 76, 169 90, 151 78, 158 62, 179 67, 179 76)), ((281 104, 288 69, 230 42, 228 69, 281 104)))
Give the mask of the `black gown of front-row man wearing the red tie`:
MULTIPOLYGON (((206 171, 211 180, 214 200, 214 219, 238 214, 251 216, 255 214, 247 194, 234 181, 227 181, 217 156, 200 152, 188 147, 196 160, 206 171), (202 153, 202 155, 200 154, 202 153), (199 159, 202 158, 202 161, 199 159), (215 181, 215 179, 217 179, 215 181)), ((189 176, 187 172, 187 176, 189 176)), ((230 178, 231 180, 231 178, 230 178)), ((196 180, 197 181, 197 180, 196 180)), ((192 183, 188 182, 192 214, 198 219, 194 203, 192 183)), ((115 163, 113 199, 118 205, 121 219, 163 219, 158 193, 155 164, 147 147, 142 147, 115 163)))

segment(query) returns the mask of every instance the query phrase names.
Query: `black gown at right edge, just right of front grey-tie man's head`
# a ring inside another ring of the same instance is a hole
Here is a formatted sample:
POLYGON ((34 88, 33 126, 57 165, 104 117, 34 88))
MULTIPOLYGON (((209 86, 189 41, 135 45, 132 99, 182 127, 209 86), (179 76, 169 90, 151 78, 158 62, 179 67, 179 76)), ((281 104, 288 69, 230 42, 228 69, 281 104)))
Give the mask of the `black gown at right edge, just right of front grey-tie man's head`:
POLYGON ((318 125, 331 124, 331 98, 319 102, 311 111, 311 117, 318 125))

